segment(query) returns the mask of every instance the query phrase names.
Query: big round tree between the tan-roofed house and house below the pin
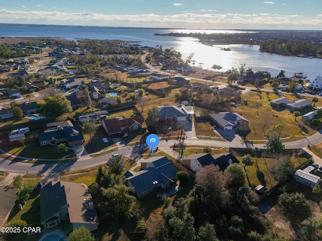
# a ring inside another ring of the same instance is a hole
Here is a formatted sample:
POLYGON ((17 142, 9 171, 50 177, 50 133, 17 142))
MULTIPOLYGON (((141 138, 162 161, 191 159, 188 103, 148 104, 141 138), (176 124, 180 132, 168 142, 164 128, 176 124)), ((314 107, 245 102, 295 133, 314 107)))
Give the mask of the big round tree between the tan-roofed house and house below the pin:
POLYGON ((99 208, 118 220, 127 220, 132 217, 132 209, 135 197, 129 194, 130 189, 124 184, 115 185, 112 188, 102 188, 104 202, 99 208))

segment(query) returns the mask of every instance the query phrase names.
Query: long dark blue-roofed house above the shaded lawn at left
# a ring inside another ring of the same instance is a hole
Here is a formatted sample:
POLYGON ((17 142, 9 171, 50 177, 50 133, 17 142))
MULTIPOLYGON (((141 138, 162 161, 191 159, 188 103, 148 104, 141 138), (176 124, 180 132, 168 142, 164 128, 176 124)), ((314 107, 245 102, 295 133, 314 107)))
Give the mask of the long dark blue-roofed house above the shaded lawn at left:
POLYGON ((82 128, 75 127, 57 127, 56 130, 50 132, 39 133, 37 135, 40 146, 58 145, 62 142, 67 142, 69 147, 83 145, 84 137, 82 128))

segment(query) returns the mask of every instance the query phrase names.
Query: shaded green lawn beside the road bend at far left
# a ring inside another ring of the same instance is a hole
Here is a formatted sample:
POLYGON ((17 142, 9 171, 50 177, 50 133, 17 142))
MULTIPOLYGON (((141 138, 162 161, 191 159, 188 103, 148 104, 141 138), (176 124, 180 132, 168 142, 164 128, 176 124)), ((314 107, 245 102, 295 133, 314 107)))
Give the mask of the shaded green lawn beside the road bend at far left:
MULTIPOLYGON (((3 147, 2 149, 12 155, 27 158, 61 159, 75 157, 75 153, 72 150, 68 149, 66 154, 60 154, 57 147, 41 147, 38 141, 28 142, 25 144, 25 146, 22 144, 17 144, 9 147, 3 147)), ((22 160, 17 159, 16 161, 20 162, 22 160)))

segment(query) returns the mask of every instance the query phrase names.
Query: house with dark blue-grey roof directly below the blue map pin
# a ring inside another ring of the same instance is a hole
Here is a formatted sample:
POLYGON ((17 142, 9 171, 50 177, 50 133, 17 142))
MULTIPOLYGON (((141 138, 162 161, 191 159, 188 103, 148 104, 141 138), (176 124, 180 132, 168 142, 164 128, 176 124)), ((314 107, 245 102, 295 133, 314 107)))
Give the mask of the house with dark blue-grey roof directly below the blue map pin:
POLYGON ((132 193, 141 198, 159 188, 169 188, 175 183, 177 170, 168 157, 151 157, 141 162, 141 171, 125 173, 126 183, 132 193))

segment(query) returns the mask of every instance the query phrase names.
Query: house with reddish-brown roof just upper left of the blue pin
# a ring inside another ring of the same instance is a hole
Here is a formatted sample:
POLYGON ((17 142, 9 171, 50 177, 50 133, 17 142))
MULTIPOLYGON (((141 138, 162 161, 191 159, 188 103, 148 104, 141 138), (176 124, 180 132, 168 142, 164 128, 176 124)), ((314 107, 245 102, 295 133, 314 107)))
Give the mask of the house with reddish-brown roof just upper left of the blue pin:
POLYGON ((135 131, 142 127, 142 122, 138 117, 125 118, 116 117, 112 119, 105 119, 102 123, 106 134, 109 137, 120 135, 125 131, 135 131))

